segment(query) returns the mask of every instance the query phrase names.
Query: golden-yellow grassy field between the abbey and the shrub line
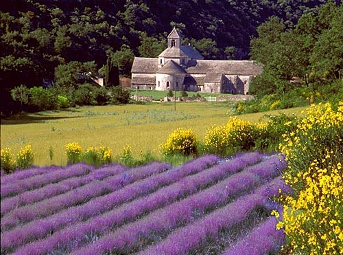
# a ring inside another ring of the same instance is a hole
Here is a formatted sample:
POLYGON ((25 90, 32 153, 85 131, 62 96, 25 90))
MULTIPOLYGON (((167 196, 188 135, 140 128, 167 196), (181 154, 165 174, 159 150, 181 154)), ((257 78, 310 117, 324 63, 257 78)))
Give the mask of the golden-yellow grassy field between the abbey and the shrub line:
MULTIPOLYGON (((178 102, 174 104, 128 104, 123 106, 81 107, 70 111, 48 111, 1 120, 1 148, 12 153, 32 144, 34 164, 66 164, 64 144, 78 142, 84 148, 109 146, 114 155, 130 144, 132 154, 150 151, 158 154, 158 145, 178 127, 191 128, 200 139, 213 124, 225 124, 231 113, 230 102, 178 102), (54 159, 50 162, 49 146, 54 159)), ((304 108, 287 109, 300 114, 304 108)), ((279 111, 268 113, 277 114, 279 111)), ((265 113, 239 115, 257 122, 265 113)))

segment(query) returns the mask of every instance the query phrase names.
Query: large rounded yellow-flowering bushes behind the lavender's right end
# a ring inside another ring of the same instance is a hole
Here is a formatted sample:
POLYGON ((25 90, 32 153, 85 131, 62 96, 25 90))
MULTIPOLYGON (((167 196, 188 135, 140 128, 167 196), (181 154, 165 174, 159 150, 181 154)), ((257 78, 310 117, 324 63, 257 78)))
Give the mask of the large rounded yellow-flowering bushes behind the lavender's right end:
POLYGON ((265 115, 267 122, 253 124, 230 117, 222 126, 212 126, 206 131, 202 143, 191 129, 176 129, 167 142, 160 145, 166 157, 169 155, 234 155, 237 151, 276 151, 282 134, 294 131, 298 118, 294 115, 265 115))

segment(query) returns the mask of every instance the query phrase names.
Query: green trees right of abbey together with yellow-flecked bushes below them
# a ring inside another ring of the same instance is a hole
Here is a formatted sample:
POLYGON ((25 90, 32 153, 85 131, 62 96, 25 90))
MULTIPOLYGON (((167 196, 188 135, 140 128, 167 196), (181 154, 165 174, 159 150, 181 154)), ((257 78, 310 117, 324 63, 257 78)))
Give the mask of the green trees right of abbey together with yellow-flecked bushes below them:
POLYGON ((250 56, 263 64, 249 93, 257 100, 239 103, 241 113, 335 102, 343 97, 343 6, 328 1, 300 17, 294 27, 272 17, 257 28, 250 56))

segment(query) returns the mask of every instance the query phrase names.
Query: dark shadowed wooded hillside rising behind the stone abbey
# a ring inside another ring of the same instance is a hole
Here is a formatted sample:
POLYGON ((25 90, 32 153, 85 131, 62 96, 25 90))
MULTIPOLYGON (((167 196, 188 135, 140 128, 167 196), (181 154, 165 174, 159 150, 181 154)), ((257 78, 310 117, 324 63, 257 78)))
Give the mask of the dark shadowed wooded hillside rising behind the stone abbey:
MULTIPOLYGON (((302 14, 310 16, 324 3, 326 0, 1 1, 1 111, 10 107, 10 89, 59 79, 56 74, 61 65, 77 67, 94 61, 100 69, 110 57, 112 77, 130 75, 133 56, 161 53, 174 26, 206 58, 247 59, 250 36, 257 36, 257 27, 270 16, 293 28, 302 14)), ((340 24, 331 25, 340 29, 340 24)), ((338 43, 324 37, 320 42, 314 47, 313 63, 329 54, 321 45, 338 43)), ((331 63, 327 71, 338 73, 338 62, 331 63)), ((314 69, 322 65, 326 64, 320 61, 314 69)))

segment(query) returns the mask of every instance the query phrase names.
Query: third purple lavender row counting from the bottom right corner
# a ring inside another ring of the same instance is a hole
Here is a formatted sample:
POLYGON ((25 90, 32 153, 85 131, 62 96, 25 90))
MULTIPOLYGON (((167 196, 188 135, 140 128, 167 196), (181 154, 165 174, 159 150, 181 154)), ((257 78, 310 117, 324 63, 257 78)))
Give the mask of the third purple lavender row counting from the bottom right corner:
MULTIPOLYGON (((272 168, 274 168, 274 166, 272 166, 272 168)), ((267 170, 267 172, 271 171, 267 170)), ((105 236, 104 238, 99 239, 94 245, 91 245, 91 247, 89 247, 90 253, 95 252, 94 254, 98 254, 106 251, 102 250, 101 247, 106 247, 106 249, 109 249, 107 251, 110 251, 112 248, 108 247, 111 245, 113 245, 111 247, 116 247, 117 249, 126 247, 126 252, 128 252, 127 249, 130 244, 134 245, 139 236, 147 236, 152 230, 154 230, 154 232, 162 232, 163 230, 176 228, 180 222, 191 220, 194 217, 193 212, 204 212, 206 208, 210 208, 211 206, 215 206, 218 203, 225 201, 229 195, 247 190, 249 186, 257 181, 256 178, 258 179, 258 177, 254 177, 249 173, 234 175, 228 179, 227 183, 222 184, 222 186, 219 184, 213 186, 213 188, 204 190, 204 192, 200 192, 194 197, 189 197, 189 199, 185 199, 178 203, 173 203, 166 208, 157 210, 140 221, 123 226, 123 228, 120 228, 113 234, 105 236)), ((275 184, 268 184, 259 189, 258 192, 261 192, 260 190, 263 190, 263 192, 268 190, 268 192, 261 195, 261 197, 268 198, 274 194, 278 194, 279 188, 283 188, 283 185, 282 183, 279 183, 279 181, 274 182, 275 184), (275 189, 274 186, 277 186, 278 189, 275 189)), ((88 248, 81 249, 78 254, 82 253, 89 254, 88 248)))

